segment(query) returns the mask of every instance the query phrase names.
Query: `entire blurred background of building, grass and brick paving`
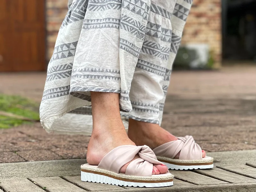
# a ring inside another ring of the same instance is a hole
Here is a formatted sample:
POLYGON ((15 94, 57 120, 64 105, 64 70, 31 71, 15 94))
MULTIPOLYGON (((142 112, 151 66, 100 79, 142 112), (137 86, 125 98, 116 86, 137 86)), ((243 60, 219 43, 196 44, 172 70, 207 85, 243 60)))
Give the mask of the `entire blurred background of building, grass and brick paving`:
MULTIPOLYGON (((0 0, 0 163, 85 157, 89 138, 38 122, 67 4, 0 0)), ((194 0, 173 69, 165 129, 206 151, 256 149, 256 0, 194 0)))

